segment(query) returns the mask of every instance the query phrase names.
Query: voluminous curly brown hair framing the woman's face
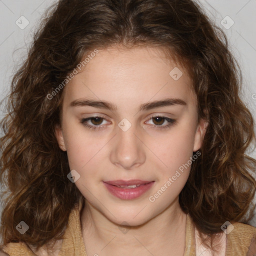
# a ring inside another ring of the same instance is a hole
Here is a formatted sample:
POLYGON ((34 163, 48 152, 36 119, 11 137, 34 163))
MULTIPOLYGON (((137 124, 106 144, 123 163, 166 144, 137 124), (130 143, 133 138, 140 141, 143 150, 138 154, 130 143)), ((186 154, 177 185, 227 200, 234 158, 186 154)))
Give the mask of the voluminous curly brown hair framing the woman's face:
POLYGON ((24 241, 39 248, 62 238, 82 195, 66 177, 67 155, 54 134, 62 90, 52 99, 47 95, 85 53, 117 43, 164 47, 192 78, 198 118, 208 126, 179 203, 196 228, 212 237, 226 220, 241 220, 250 209, 256 181, 248 170, 255 171, 256 160, 246 149, 255 139, 253 119, 239 97, 240 69, 223 31, 192 0, 59 0, 13 77, 1 121, 0 181, 8 188, 3 245, 24 241), (20 220, 33 228, 20 234, 15 229, 20 220))

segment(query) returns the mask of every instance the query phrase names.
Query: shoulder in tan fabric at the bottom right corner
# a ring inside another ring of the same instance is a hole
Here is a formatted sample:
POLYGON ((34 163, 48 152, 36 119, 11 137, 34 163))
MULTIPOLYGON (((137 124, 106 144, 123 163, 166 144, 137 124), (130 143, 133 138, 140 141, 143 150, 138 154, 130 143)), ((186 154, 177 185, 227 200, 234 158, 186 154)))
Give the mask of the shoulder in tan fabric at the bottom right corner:
POLYGON ((233 255, 244 253, 245 255, 245 253, 248 253, 249 251, 256 253, 256 227, 240 222, 234 222, 228 225, 226 234, 227 251, 230 255, 231 253, 233 255))

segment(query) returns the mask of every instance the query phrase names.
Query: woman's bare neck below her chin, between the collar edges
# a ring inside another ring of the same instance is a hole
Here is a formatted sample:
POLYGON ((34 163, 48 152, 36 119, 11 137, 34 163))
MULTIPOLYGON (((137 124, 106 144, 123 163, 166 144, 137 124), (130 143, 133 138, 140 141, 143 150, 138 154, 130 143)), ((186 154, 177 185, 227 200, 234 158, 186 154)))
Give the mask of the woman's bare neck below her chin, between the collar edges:
POLYGON ((107 219, 85 200, 81 210, 81 230, 88 256, 175 255, 185 247, 186 214, 178 198, 163 212, 138 226, 120 226, 107 219), (149 253, 149 254, 150 254, 149 253))

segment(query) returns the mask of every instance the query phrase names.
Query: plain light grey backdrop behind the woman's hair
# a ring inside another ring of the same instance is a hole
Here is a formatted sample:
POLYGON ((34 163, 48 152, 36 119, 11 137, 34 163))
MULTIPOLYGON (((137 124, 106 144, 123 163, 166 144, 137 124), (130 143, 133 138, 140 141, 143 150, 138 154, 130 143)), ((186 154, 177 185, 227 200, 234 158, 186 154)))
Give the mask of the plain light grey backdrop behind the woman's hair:
MULTIPOLYGON (((56 0, 0 0, 0 100, 8 93, 18 65, 45 9, 56 0)), ((256 0, 198 0, 226 33, 243 72, 242 98, 256 118, 256 0)), ((4 108, 1 106, 0 119, 4 108)), ((256 151, 249 152, 256 158, 256 151)), ((1 211, 1 208, 0 208, 1 211)), ((256 226, 253 218, 250 224, 256 226)))

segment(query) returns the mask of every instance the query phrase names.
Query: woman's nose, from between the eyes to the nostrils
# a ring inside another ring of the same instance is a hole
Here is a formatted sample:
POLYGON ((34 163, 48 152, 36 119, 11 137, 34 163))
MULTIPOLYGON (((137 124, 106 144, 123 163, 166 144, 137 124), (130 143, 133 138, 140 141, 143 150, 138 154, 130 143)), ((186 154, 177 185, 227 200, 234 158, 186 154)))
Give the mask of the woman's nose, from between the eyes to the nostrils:
POLYGON ((133 169, 145 161, 145 145, 135 125, 124 131, 117 127, 117 134, 111 141, 110 160, 124 169, 133 169))

